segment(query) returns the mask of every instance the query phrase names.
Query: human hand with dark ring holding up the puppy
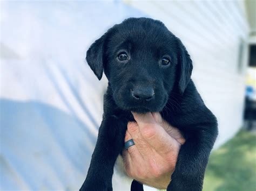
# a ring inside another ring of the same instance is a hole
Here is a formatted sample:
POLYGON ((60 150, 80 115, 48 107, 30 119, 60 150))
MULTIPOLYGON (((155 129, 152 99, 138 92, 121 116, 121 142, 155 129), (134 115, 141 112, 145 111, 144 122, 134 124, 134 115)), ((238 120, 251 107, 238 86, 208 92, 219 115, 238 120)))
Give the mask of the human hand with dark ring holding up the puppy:
POLYGON ((132 114, 136 122, 128 123, 125 142, 133 139, 135 145, 123 151, 126 173, 145 185, 166 189, 185 139, 159 113, 132 114))

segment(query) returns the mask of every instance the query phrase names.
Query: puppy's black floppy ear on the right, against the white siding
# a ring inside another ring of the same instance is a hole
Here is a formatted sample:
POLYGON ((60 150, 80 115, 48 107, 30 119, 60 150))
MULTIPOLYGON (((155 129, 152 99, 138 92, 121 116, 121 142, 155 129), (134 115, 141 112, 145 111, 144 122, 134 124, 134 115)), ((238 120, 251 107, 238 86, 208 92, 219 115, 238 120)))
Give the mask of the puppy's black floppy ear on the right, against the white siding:
POLYGON ((178 89, 179 93, 183 94, 187 84, 190 82, 190 77, 193 69, 192 60, 185 46, 177 38, 178 44, 178 89))

